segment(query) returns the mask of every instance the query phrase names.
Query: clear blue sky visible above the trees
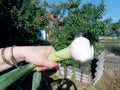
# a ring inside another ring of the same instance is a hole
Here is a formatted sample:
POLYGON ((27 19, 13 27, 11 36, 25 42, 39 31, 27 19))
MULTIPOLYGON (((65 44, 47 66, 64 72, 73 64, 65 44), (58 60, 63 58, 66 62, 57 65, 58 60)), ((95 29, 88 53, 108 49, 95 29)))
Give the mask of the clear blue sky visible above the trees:
MULTIPOLYGON (((56 3, 59 3, 60 1, 66 2, 68 0, 48 0, 48 2, 56 1, 56 3)), ((117 22, 120 20, 120 0, 103 0, 104 4, 106 5, 105 14, 103 16, 103 20, 106 18, 111 17, 113 19, 113 22, 117 22)), ((101 0, 82 0, 82 4, 85 4, 87 2, 93 2, 96 5, 99 5, 101 0)))

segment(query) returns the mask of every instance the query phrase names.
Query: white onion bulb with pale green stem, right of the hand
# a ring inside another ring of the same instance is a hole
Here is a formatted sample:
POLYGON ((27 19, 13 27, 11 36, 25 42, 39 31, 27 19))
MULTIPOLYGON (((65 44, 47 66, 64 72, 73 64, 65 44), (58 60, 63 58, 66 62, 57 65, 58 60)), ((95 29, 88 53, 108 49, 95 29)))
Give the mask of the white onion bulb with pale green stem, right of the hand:
POLYGON ((85 37, 78 37, 72 41, 71 45, 65 49, 50 54, 48 59, 51 61, 60 61, 73 58, 79 62, 92 60, 94 57, 94 48, 85 37))

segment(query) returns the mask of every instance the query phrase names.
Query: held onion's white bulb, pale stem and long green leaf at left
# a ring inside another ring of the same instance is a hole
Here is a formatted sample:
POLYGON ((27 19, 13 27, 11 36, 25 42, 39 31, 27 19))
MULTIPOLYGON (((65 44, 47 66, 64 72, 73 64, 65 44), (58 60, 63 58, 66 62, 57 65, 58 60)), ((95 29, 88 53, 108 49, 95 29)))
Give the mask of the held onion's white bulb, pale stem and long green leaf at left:
MULTIPOLYGON (((72 41, 72 43, 55 53, 51 53, 48 56, 48 60, 53 62, 59 62, 61 60, 66 60, 68 58, 73 58, 73 60, 79 62, 86 62, 92 60, 94 57, 94 48, 90 44, 89 40, 85 37, 78 37, 72 41)), ((14 83, 20 77, 29 74, 35 70, 36 65, 27 64, 9 71, 0 76, 0 90, 5 90, 9 85, 14 83)))

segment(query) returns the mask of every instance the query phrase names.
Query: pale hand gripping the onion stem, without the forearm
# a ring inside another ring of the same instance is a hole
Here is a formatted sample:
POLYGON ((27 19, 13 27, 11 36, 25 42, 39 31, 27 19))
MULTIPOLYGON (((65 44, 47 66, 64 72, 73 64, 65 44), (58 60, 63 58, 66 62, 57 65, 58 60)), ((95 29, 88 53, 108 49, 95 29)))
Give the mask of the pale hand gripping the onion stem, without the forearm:
POLYGON ((57 63, 48 60, 48 55, 54 52, 52 46, 29 46, 24 56, 27 62, 38 66, 37 71, 44 71, 58 68, 57 63))

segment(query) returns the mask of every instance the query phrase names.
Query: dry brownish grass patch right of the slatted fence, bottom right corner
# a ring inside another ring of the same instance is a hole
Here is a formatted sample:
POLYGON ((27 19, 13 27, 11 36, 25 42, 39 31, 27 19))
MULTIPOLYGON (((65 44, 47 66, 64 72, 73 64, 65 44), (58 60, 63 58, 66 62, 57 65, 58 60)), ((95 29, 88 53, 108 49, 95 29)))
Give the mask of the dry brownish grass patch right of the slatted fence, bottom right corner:
POLYGON ((95 90, 120 90, 120 74, 105 71, 96 84, 95 90))

